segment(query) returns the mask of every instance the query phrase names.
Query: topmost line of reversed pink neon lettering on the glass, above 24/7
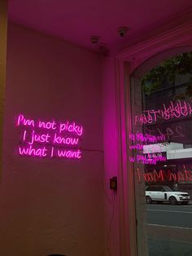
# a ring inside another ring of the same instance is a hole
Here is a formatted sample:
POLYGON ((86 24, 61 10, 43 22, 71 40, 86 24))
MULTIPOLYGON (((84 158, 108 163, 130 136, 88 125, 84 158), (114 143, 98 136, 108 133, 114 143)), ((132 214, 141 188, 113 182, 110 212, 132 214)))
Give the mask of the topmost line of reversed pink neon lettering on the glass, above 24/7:
POLYGON ((163 104, 163 108, 159 108, 157 110, 145 110, 142 114, 135 116, 135 124, 151 124, 157 121, 158 118, 169 120, 172 118, 180 118, 180 117, 187 117, 192 115, 192 105, 188 102, 181 102, 178 100, 177 103, 173 104, 172 101, 166 107, 163 104))

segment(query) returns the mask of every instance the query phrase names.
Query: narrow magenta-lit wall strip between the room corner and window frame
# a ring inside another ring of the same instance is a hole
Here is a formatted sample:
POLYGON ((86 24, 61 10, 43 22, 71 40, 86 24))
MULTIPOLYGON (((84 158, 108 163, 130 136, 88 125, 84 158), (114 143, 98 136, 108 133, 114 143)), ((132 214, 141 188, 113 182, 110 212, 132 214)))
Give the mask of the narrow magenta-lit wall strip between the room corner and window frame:
POLYGON ((107 255, 117 256, 120 255, 119 188, 113 191, 110 190, 109 185, 109 180, 118 176, 116 61, 114 56, 107 56, 103 59, 103 117, 107 255))

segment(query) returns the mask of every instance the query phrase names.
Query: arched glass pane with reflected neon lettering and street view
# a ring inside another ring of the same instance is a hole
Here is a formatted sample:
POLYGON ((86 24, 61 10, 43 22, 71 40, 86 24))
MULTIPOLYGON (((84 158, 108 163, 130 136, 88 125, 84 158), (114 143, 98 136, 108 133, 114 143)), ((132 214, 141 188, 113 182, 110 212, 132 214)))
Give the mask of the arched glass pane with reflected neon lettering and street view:
POLYGON ((192 53, 131 77, 138 256, 192 255, 192 53))

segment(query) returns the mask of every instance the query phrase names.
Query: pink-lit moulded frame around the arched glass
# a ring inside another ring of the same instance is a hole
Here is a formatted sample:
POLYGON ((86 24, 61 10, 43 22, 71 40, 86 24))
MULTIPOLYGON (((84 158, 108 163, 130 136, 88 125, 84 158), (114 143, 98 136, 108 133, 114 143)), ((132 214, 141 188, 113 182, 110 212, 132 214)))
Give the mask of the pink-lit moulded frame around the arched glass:
MULTIPOLYGON (((129 163, 128 132, 131 131, 131 102, 129 78, 146 60, 168 52, 172 55, 177 49, 191 51, 192 20, 175 21, 172 27, 156 30, 134 45, 128 46, 116 55, 116 120, 118 130, 118 188, 119 188, 119 227, 120 256, 141 256, 137 246, 136 198, 133 180, 133 164, 129 163), (163 30, 163 32, 162 32, 163 30), (161 31, 161 32, 160 32, 161 31)), ((148 64, 150 65, 150 63, 148 64)), ((147 255, 142 252, 142 256, 147 255)))

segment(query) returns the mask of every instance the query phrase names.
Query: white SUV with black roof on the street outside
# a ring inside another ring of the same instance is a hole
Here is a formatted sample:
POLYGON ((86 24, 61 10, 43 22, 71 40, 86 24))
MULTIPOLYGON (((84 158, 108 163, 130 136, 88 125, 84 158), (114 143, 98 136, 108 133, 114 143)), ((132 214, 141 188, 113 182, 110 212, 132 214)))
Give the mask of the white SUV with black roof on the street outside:
POLYGON ((170 205, 176 205, 178 202, 181 204, 188 204, 190 195, 187 192, 172 191, 168 186, 153 185, 146 188, 146 203, 151 204, 152 201, 169 202, 170 205))

